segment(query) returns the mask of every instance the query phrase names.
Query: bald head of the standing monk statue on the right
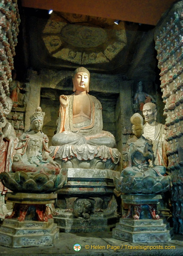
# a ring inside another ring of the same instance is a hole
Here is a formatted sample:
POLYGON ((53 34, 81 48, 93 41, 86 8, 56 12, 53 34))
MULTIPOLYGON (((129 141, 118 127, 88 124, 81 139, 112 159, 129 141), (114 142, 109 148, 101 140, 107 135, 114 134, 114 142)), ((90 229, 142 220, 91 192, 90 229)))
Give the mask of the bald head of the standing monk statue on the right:
POLYGON ((144 104, 142 112, 146 122, 152 123, 156 121, 157 109, 154 103, 149 102, 144 104))

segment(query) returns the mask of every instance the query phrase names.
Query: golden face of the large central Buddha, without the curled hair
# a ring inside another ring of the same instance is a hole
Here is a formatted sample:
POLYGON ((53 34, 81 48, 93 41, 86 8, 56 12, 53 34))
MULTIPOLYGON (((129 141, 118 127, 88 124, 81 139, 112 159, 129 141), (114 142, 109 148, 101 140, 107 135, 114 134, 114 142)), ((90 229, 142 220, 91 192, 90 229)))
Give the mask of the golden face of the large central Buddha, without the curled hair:
POLYGON ((89 76, 86 72, 77 72, 73 78, 76 91, 87 91, 89 88, 89 76))

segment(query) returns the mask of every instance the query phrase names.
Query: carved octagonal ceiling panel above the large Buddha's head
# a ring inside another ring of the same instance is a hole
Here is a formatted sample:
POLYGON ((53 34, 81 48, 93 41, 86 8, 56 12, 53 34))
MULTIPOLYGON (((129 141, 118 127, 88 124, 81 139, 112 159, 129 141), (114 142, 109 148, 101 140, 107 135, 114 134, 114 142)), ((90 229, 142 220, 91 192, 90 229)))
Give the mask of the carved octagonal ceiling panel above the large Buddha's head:
POLYGON ((42 38, 49 56, 77 65, 109 63, 127 43, 125 22, 69 13, 55 13, 42 38))

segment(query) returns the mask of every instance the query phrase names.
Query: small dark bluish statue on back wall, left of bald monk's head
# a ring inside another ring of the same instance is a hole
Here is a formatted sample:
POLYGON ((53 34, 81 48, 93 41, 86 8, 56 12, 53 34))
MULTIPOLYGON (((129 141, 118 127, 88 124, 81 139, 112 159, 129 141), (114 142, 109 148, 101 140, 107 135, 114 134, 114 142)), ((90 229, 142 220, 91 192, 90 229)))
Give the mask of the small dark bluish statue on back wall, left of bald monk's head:
POLYGON ((149 94, 146 94, 145 92, 143 92, 143 87, 142 87, 142 81, 140 81, 137 85, 137 91, 134 95, 134 112, 135 113, 140 113, 142 112, 142 109, 143 109, 143 105, 145 103, 148 103, 148 102, 155 102, 154 98, 149 95, 149 94))

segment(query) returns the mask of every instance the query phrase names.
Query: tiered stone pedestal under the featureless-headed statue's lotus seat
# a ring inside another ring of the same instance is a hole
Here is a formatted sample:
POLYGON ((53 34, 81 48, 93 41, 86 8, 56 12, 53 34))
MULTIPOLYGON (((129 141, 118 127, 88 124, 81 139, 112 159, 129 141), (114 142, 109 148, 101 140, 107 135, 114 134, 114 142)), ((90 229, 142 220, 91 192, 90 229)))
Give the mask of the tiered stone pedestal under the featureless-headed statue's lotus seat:
POLYGON ((171 240, 174 236, 173 228, 170 228, 165 218, 159 218, 156 213, 157 204, 162 199, 161 195, 122 195, 121 198, 122 207, 129 207, 128 214, 116 224, 113 238, 133 243, 160 243, 171 240), (149 206, 152 205, 154 209, 150 212, 149 206), (131 218, 133 213, 135 215, 131 218), (135 219, 137 215, 139 219, 135 219))

